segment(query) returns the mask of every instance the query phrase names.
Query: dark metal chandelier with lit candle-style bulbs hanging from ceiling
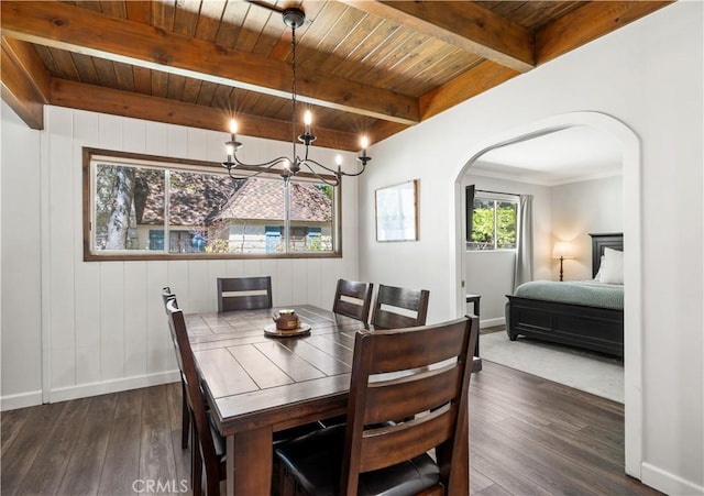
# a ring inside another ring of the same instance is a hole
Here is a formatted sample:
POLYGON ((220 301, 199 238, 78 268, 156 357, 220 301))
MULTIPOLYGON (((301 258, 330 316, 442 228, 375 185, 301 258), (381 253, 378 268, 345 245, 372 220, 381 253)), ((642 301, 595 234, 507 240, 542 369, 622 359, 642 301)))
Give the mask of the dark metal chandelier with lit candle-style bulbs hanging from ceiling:
POLYGON ((308 169, 314 176, 330 186, 339 186, 343 176, 359 176, 364 173, 366 168, 367 162, 372 159, 372 157, 366 155, 366 147, 369 146, 369 140, 366 136, 362 136, 361 147, 362 155, 356 159, 362 164, 361 170, 356 173, 345 173, 341 168, 342 157, 338 155, 336 157, 337 169, 332 167, 328 167, 308 156, 308 152, 310 150, 310 145, 316 141, 316 135, 312 134, 310 129, 310 124, 312 122, 312 115, 309 110, 306 110, 304 115, 304 133, 296 139, 296 29, 300 27, 306 21, 306 14, 299 8, 293 7, 288 9, 284 9, 282 11, 284 23, 290 27, 290 46, 292 46, 292 130, 293 130, 293 155, 292 157, 279 156, 273 158, 268 162, 264 162, 261 164, 246 164, 238 158, 238 151, 242 147, 242 143, 238 141, 238 123, 234 119, 230 121, 230 141, 226 142, 226 153, 227 159, 222 163, 222 166, 228 169, 228 174, 233 179, 246 179, 250 177, 257 176, 264 172, 271 170, 275 165, 282 165, 283 168, 275 168, 274 170, 279 172, 279 175, 284 178, 286 183, 293 176, 298 174, 301 168, 308 169), (296 152, 297 142, 301 142, 305 146, 305 153, 299 156, 296 152), (322 177, 318 174, 318 170, 327 170, 328 173, 334 176, 334 179, 330 179, 329 176, 322 177), (233 174, 233 169, 237 167, 243 167, 249 170, 253 170, 254 174, 242 175, 238 177, 233 174))

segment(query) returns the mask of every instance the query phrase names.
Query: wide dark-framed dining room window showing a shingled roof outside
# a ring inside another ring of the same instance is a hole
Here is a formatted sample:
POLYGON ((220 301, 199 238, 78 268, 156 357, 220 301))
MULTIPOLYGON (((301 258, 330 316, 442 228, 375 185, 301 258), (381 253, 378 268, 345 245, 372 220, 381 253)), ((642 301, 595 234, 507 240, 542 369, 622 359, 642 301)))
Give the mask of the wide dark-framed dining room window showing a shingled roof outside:
POLYGON ((84 175, 85 260, 341 255, 340 187, 310 175, 286 188, 276 170, 233 180, 219 164, 92 148, 84 175))

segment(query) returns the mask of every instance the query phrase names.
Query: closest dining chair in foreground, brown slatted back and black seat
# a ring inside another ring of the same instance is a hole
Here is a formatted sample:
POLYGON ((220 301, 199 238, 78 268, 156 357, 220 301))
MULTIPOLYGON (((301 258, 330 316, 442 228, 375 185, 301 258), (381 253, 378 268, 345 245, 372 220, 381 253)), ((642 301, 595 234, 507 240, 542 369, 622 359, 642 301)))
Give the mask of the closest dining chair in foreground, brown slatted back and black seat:
POLYGON ((280 494, 442 495, 451 484, 469 487, 468 395, 477 333, 476 317, 358 331, 349 421, 275 449, 280 494))

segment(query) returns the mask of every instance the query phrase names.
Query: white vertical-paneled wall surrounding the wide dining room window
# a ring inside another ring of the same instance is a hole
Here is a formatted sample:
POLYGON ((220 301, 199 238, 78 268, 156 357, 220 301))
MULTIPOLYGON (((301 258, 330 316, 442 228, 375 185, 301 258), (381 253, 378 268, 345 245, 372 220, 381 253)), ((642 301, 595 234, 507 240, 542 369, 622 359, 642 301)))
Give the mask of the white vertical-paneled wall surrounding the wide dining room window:
MULTIPOLYGON (((37 132, 4 103, 2 131, 3 409, 40 403, 42 387, 57 401, 176 381, 163 286, 187 312, 216 311, 217 277, 266 274, 274 305, 331 308, 337 279, 358 277, 356 179, 342 186, 342 258, 84 262, 82 146, 220 161, 228 136, 58 107, 37 132)), ((243 152, 289 146, 249 139, 243 152)), ((315 153, 332 163, 337 152, 315 153)))

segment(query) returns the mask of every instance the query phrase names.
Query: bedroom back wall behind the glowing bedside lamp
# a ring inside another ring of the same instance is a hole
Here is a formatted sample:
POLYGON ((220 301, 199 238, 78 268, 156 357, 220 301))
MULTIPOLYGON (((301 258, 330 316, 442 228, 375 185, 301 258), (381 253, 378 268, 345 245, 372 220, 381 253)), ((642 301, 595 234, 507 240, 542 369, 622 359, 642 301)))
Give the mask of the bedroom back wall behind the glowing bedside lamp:
MULTIPOLYGON (((557 241, 569 241, 575 253, 574 258, 563 262, 564 280, 591 279, 592 239, 588 234, 624 232, 623 176, 554 186, 551 194, 551 245, 557 241)), ((543 253, 543 256, 550 255, 543 253)), ((557 280, 560 263, 552 262, 551 278, 557 280)))

